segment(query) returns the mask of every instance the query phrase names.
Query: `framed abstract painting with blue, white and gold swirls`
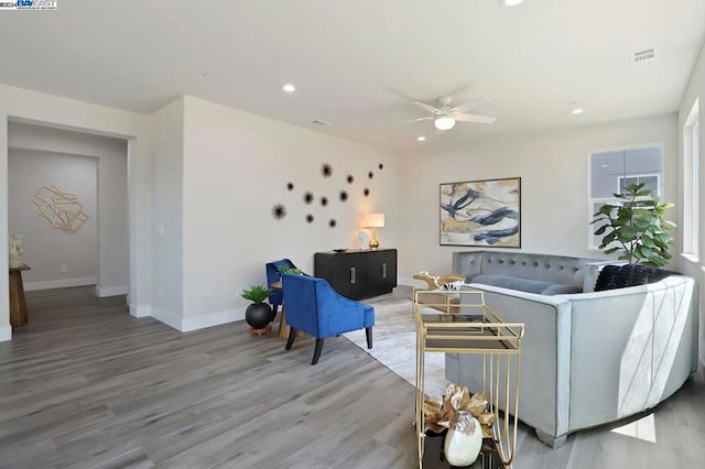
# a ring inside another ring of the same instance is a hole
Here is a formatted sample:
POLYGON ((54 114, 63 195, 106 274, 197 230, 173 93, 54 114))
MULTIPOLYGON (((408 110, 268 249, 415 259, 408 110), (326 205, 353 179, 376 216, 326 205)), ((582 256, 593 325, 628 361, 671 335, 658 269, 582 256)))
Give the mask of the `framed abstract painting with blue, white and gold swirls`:
POLYGON ((441 246, 521 248, 521 177, 441 184, 441 246))

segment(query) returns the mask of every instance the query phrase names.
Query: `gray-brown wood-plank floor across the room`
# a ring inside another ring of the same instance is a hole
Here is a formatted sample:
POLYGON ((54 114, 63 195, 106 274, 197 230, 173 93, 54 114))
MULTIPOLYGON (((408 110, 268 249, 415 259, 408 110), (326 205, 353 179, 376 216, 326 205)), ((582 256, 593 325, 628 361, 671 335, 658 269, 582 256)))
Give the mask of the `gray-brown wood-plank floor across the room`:
MULTIPOLYGON (((93 292, 28 292, 30 323, 0 343, 0 467, 417 467, 413 388, 346 338, 312 367, 311 338, 286 352, 245 323, 182 334, 93 292)), ((523 428, 514 468, 705 465, 699 381, 648 414, 640 438, 611 432, 625 423, 555 450, 523 428)))

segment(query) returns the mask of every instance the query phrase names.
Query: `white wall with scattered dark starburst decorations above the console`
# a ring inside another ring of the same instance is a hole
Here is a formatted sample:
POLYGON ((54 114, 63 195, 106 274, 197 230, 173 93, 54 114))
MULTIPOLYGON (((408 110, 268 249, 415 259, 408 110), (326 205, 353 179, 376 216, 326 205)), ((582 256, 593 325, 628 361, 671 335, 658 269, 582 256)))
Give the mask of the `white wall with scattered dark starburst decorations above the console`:
POLYGON ((354 248, 364 212, 384 212, 381 246, 399 246, 399 163, 389 153, 192 97, 184 137, 184 328, 241 318, 248 302, 239 292, 265 283, 269 261, 289 258, 313 273, 316 251, 354 248), (333 167, 328 178, 324 163, 333 167), (275 204, 286 207, 282 220, 272 217, 275 204))

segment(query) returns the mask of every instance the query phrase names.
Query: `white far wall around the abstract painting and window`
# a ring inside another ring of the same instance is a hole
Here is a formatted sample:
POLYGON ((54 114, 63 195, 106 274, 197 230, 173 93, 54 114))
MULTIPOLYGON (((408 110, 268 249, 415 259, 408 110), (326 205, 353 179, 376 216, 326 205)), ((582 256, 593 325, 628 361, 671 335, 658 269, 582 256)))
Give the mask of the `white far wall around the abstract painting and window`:
MULTIPOLYGON (((589 152, 663 143, 663 199, 675 201, 676 123, 675 113, 670 113, 404 157, 400 276, 409 281, 422 270, 449 273, 452 252, 468 249, 438 244, 438 185, 460 181, 521 177, 521 251, 603 257, 586 249, 592 219, 587 207, 589 152)), ((677 222, 675 210, 668 217, 677 222)))

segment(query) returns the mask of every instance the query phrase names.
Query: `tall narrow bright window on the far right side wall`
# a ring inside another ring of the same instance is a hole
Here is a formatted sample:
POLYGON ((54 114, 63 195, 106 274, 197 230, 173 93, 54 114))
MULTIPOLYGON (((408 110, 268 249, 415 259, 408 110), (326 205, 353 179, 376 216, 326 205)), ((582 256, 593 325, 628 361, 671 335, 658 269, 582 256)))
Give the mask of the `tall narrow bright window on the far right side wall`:
POLYGON ((683 252, 694 257, 698 255, 699 236, 698 129, 698 101, 695 100, 683 128, 683 252))

